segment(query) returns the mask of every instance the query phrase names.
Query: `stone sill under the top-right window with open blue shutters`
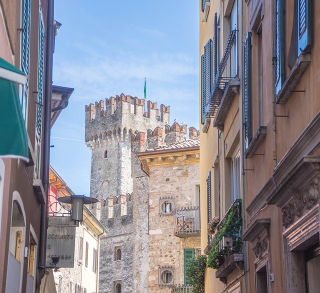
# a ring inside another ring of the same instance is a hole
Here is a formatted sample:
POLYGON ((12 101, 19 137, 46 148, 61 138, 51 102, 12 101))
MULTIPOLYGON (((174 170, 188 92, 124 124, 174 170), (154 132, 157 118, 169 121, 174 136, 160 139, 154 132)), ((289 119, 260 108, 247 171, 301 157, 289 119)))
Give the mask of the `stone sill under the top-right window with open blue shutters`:
POLYGON ((303 72, 310 64, 310 54, 300 54, 295 61, 293 68, 286 77, 281 89, 275 96, 275 103, 284 104, 290 97, 291 92, 294 91, 303 72))

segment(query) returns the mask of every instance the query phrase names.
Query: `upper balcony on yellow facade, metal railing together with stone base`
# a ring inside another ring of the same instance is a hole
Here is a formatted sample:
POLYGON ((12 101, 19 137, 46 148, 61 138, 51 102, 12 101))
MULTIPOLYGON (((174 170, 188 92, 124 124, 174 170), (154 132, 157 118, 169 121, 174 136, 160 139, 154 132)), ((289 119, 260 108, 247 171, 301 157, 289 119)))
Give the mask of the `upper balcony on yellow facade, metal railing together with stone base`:
POLYGON ((238 79, 235 79, 234 76, 233 77, 224 76, 225 75, 224 70, 231 53, 231 48, 235 41, 235 33, 236 33, 235 30, 232 30, 229 33, 228 39, 226 41, 226 45, 224 47, 223 56, 221 58, 221 61, 215 73, 213 86, 210 90, 210 100, 206 106, 207 116, 214 118, 218 112, 221 100, 223 98, 224 100, 223 104, 225 104, 226 107, 223 106, 223 109, 220 109, 221 115, 219 117, 219 121, 217 121, 219 125, 221 125, 222 123, 221 121, 223 121, 222 127, 225 119, 224 108, 230 107, 230 104, 232 104, 234 95, 238 93, 239 86, 240 86, 240 81, 238 79), (233 83, 231 82, 231 80, 233 83), (229 82, 230 84, 228 86, 229 82))

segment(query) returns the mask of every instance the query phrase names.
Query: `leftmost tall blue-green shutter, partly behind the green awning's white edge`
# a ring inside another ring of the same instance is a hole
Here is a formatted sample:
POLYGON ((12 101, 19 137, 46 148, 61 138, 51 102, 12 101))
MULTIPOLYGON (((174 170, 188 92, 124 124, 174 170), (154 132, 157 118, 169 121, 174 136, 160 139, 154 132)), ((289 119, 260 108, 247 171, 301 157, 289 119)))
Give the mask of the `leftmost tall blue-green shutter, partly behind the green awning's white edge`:
MULTIPOLYGON (((30 51, 30 17, 31 17, 31 0, 22 0, 21 7, 21 70, 29 76, 29 51, 30 51)), ((28 100, 28 77, 26 84, 22 86, 22 95, 20 102, 22 115, 26 119, 27 100, 28 100)))

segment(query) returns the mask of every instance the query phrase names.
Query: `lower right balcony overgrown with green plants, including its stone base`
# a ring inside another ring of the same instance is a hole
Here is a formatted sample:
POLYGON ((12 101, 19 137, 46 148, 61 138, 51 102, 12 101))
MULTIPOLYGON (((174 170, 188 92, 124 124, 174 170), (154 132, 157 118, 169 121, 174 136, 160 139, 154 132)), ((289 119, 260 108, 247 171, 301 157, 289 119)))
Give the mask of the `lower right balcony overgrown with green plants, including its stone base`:
POLYGON ((243 269, 241 199, 233 201, 223 218, 208 223, 209 245, 207 266, 216 269, 215 277, 226 283, 236 268, 243 269))

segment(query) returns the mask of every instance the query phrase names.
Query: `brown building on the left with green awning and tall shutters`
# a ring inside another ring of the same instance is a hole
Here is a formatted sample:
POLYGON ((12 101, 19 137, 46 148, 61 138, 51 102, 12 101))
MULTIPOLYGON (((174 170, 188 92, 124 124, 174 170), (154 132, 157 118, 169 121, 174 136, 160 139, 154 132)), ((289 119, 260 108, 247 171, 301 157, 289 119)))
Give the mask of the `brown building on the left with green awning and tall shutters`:
POLYGON ((1 292, 35 292, 45 273, 50 128, 72 92, 52 88, 58 25, 53 0, 0 0, 1 292))

